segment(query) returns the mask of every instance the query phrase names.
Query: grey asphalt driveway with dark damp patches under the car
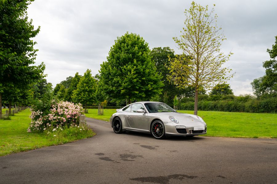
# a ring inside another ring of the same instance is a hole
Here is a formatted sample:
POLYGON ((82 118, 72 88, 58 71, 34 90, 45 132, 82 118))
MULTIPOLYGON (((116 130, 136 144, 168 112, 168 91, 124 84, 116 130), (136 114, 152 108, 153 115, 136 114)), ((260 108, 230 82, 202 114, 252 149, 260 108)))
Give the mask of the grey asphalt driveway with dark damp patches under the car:
MULTIPOLYGON (((97 135, 0 157, 5 183, 277 183, 277 140, 115 134, 87 118, 97 135)), ((224 131, 224 130, 223 130, 224 131)))

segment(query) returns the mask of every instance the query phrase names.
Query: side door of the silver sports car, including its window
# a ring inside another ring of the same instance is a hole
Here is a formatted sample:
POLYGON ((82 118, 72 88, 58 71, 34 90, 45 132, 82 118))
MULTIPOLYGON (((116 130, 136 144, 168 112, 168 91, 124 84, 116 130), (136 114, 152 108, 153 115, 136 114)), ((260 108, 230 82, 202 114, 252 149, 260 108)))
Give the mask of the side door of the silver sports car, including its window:
POLYGON ((131 128, 148 130, 148 115, 147 113, 138 113, 138 109, 144 109, 141 103, 135 103, 131 107, 131 112, 127 115, 127 120, 131 128))

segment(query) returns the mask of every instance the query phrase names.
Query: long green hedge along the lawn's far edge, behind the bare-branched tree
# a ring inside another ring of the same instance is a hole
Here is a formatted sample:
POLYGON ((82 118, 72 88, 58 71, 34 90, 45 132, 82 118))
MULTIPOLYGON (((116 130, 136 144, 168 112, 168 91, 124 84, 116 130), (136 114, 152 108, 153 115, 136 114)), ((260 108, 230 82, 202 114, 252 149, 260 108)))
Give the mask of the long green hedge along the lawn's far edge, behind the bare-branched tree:
MULTIPOLYGON (((182 98, 179 110, 194 110, 194 98, 182 98)), ((204 111, 277 113, 277 98, 257 99, 251 95, 199 95, 198 109, 204 111)))

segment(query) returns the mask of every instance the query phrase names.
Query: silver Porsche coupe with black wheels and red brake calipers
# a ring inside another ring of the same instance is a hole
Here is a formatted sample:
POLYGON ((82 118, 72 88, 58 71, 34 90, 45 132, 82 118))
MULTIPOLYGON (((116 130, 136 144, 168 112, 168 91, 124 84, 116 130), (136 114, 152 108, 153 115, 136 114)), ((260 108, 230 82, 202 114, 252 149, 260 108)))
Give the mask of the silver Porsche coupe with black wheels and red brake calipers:
POLYGON ((110 125, 115 133, 146 132, 156 139, 207 133, 207 125, 201 117, 178 113, 162 102, 135 102, 116 111, 110 117, 110 125))

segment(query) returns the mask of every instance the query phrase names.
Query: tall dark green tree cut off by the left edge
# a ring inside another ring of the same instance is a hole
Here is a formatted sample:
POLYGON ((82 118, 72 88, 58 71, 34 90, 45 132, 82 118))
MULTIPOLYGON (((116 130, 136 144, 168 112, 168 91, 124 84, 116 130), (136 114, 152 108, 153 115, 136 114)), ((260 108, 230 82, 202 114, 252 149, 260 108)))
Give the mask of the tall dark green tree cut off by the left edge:
POLYGON ((38 51, 31 38, 40 30, 34 29, 32 19, 28 21, 27 17, 27 6, 33 1, 0 1, 0 106, 4 89, 9 94, 13 88, 28 90, 26 86, 41 79, 45 69, 43 63, 30 66, 38 51))

